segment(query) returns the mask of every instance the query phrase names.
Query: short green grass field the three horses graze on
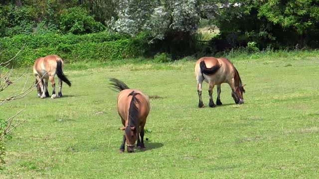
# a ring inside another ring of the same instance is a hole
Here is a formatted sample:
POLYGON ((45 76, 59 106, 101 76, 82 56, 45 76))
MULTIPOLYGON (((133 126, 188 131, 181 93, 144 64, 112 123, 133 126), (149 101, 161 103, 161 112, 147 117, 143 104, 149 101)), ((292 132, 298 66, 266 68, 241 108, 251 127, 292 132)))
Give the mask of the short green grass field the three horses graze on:
MULTIPOLYGON (((245 103, 235 104, 223 84, 224 105, 216 108, 208 107, 207 84, 205 107, 197 107, 194 61, 66 68, 72 87, 63 84, 63 98, 40 99, 34 90, 0 106, 3 118, 26 104, 17 119, 27 119, 7 141, 0 178, 319 178, 318 58, 233 63, 246 84, 245 103), (108 88, 111 77, 157 95, 151 99, 145 152, 119 153, 123 131, 118 93, 108 88)), ((17 87, 23 83, 0 95, 17 87)))

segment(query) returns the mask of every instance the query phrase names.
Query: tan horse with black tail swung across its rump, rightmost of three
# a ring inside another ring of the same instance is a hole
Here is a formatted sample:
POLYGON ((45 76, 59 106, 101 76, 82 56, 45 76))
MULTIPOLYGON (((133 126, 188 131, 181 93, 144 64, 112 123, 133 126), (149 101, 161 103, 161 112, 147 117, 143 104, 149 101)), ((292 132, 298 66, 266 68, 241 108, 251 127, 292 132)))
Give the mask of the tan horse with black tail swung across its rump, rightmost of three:
POLYGON ((236 104, 244 103, 243 93, 244 86, 241 83, 239 73, 234 65, 226 58, 202 57, 197 60, 195 65, 195 75, 197 79, 197 92, 199 97, 198 107, 203 107, 201 98, 202 83, 205 81, 209 84, 209 107, 215 107, 213 102, 213 88, 217 85, 217 105, 222 105, 220 101, 220 85, 228 83, 232 89, 231 95, 236 104))

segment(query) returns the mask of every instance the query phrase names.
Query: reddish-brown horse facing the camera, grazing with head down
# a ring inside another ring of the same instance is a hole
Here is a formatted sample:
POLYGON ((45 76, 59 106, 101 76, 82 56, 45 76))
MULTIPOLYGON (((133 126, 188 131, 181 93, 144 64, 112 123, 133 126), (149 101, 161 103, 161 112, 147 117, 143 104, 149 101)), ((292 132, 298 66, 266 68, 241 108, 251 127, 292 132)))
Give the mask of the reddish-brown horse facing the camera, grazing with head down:
POLYGON ((118 95, 118 113, 122 119, 121 130, 124 130, 123 141, 120 152, 125 150, 125 141, 127 151, 134 152, 135 141, 137 146, 145 149, 144 145, 144 126, 146 118, 150 112, 150 99, 140 90, 130 89, 127 85, 117 79, 110 79, 112 88, 120 91, 118 95), (141 136, 141 141, 140 137, 141 136))

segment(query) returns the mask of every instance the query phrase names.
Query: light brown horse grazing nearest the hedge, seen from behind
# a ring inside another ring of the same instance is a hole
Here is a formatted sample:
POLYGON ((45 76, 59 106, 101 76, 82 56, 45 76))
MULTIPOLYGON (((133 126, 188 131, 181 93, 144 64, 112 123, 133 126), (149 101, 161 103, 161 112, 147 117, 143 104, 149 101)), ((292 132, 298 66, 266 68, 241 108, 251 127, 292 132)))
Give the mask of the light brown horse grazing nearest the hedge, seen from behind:
POLYGON ((51 98, 55 98, 55 74, 59 78, 59 93, 58 97, 62 97, 62 81, 68 84, 71 87, 71 82, 63 74, 63 60, 57 55, 48 55, 45 57, 40 57, 35 60, 33 66, 33 74, 35 76, 35 84, 38 97, 45 98, 49 96, 48 92, 48 80, 51 81, 53 88, 51 98), (40 81, 40 79, 42 80, 40 81))

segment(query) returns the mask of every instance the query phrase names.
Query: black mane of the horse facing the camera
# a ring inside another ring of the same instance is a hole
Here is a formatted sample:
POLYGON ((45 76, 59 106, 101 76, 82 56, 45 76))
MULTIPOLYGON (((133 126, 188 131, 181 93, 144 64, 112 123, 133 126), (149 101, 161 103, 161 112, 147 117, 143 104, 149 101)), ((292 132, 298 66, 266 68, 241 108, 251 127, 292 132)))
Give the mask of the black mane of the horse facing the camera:
POLYGON ((132 100, 130 103, 129 108, 129 121, 128 125, 131 127, 134 127, 138 125, 138 117, 139 117, 139 109, 136 106, 136 103, 140 103, 140 100, 136 98, 136 95, 139 93, 135 93, 135 91, 132 91, 128 96, 132 95, 132 100))

